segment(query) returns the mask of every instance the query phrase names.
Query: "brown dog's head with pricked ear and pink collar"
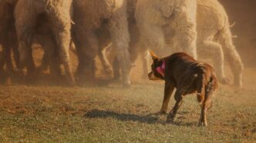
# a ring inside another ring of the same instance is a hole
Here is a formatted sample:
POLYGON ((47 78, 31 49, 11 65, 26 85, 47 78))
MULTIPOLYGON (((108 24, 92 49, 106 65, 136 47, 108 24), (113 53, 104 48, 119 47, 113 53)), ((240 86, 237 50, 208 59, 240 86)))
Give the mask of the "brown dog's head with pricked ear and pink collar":
POLYGON ((164 70, 165 70, 165 63, 164 60, 158 58, 157 55, 150 51, 150 55, 153 59, 153 63, 151 65, 151 71, 148 74, 150 80, 163 80, 164 79, 164 70))

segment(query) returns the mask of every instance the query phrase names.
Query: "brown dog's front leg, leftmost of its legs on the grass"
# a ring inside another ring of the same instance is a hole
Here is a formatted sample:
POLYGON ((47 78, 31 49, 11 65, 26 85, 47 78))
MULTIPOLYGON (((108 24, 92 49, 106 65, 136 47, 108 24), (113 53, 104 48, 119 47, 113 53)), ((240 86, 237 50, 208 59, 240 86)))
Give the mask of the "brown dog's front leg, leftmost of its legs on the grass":
POLYGON ((164 85, 163 105, 160 110, 160 114, 167 114, 168 103, 170 101, 170 96, 173 93, 173 89, 174 89, 174 84, 172 82, 166 81, 164 85))

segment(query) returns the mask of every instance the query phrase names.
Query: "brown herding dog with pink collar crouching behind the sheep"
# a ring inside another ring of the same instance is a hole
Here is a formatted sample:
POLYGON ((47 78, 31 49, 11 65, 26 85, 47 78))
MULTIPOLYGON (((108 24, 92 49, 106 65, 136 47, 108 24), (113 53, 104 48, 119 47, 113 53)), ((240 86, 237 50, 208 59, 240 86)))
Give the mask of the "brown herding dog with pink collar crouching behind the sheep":
POLYGON ((160 113, 167 112, 168 102, 174 88, 177 88, 174 98, 176 104, 170 111, 167 121, 173 121, 184 95, 197 93, 201 105, 201 115, 198 125, 207 126, 206 112, 211 107, 211 98, 217 88, 217 78, 214 68, 204 62, 198 62, 184 52, 175 53, 166 58, 158 58, 150 52, 153 58, 150 80, 164 80, 164 98, 160 113))

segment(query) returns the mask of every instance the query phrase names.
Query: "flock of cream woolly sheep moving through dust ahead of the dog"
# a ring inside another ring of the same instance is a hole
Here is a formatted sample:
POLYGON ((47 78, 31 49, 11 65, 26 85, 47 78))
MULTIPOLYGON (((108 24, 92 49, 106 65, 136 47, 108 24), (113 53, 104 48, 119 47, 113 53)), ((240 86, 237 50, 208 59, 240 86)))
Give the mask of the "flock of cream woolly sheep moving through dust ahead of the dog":
POLYGON ((150 48, 161 56, 182 51, 201 60, 210 58, 223 84, 230 82, 224 74, 226 59, 234 85, 241 87, 243 64, 230 28, 217 0, 0 0, 0 74, 5 65, 8 73, 14 71, 13 52, 19 71, 35 76, 32 44, 37 43, 45 51, 43 63, 50 73, 61 75, 62 64, 67 83, 75 85, 69 58, 73 42, 80 80, 95 78, 96 55, 111 71, 104 51, 111 45, 113 69, 121 71, 123 85, 130 85, 132 63, 150 48))

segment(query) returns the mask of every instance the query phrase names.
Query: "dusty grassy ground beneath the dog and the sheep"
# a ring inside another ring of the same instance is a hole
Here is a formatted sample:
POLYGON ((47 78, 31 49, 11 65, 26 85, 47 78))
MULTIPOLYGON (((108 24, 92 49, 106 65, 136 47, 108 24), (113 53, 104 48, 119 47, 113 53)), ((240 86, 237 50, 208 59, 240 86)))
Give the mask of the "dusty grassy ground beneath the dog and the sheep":
MULTIPOLYGON (((197 127, 195 95, 187 95, 175 124, 166 124, 167 115, 153 115, 160 111, 163 82, 141 81, 140 73, 133 70, 128 89, 119 83, 0 85, 0 142, 256 141, 255 68, 244 71, 243 89, 220 86, 208 127, 197 127)), ((169 108, 173 103, 172 97, 169 108)))

